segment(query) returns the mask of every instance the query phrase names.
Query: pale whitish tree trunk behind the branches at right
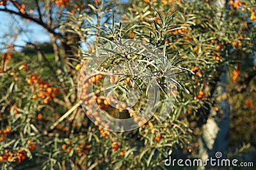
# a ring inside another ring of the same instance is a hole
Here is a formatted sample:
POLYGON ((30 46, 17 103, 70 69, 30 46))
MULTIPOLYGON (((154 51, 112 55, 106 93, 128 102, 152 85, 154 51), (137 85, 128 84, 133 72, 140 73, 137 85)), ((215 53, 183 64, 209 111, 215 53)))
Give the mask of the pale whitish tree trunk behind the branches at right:
MULTIPOLYGON (((217 8, 221 11, 225 8, 227 1, 218 0, 217 8)), ((225 13, 216 13, 220 18, 220 24, 225 20, 225 13)), ((223 31, 223 30, 222 30, 223 31)), ((220 31, 220 36, 222 31, 220 31)), ((218 96, 226 91, 227 66, 221 66, 221 74, 214 87, 212 96, 218 96)), ((216 159, 216 152, 221 152, 224 156, 228 148, 228 131, 230 124, 230 106, 227 99, 223 99, 218 104, 218 111, 210 110, 206 124, 202 126, 202 136, 199 139, 199 155, 203 162, 212 157, 216 159)), ((222 158, 223 158, 222 156, 222 158)), ((200 168, 204 169, 204 167, 200 168)))

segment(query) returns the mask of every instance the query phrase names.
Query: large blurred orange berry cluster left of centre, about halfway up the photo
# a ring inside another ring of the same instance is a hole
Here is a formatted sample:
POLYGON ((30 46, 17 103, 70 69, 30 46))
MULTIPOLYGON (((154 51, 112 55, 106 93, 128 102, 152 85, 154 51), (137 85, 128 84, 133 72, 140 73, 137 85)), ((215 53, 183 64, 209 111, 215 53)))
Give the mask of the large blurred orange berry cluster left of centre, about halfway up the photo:
POLYGON ((34 94, 32 96, 32 99, 37 99, 38 97, 41 97, 44 99, 44 104, 49 103, 49 99, 56 97, 56 94, 60 93, 60 89, 52 88, 47 81, 43 81, 39 74, 31 74, 29 75, 28 84, 33 85, 35 84, 39 85, 39 93, 34 94))

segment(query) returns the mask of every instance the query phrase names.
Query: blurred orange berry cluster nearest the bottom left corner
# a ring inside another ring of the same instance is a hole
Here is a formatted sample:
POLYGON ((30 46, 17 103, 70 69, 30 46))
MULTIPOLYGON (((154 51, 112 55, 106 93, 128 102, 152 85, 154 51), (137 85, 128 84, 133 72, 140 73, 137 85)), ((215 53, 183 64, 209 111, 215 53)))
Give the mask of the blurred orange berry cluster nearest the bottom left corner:
MULTIPOLYGON (((33 143, 33 141, 29 139, 27 142, 27 148, 29 151, 35 150, 36 143, 33 143)), ((9 152, 9 150, 6 149, 4 152, 4 155, 0 156, 0 161, 7 160, 8 162, 22 162, 22 160, 27 158, 27 153, 25 150, 21 150, 20 152, 9 152)))

